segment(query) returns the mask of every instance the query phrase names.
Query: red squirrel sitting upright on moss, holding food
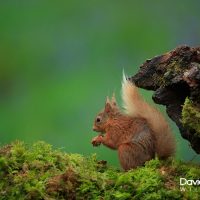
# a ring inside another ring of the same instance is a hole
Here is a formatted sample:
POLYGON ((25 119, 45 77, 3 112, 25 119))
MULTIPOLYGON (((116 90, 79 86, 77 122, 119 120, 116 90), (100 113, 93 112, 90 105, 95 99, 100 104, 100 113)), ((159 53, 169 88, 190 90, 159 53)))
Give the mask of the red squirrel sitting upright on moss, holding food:
POLYGON ((125 75, 122 81, 122 112, 113 95, 95 118, 93 146, 103 144, 118 151, 121 167, 127 171, 156 155, 166 159, 175 153, 175 140, 163 115, 146 103, 137 87, 125 75))

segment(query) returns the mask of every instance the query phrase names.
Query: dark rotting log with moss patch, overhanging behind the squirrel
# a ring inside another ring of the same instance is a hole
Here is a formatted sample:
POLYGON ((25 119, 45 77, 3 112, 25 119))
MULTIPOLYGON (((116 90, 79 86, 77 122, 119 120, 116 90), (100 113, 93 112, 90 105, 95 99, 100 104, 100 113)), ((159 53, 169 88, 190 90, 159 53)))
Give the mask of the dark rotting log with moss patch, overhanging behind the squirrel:
POLYGON ((149 59, 131 80, 155 91, 153 100, 166 105, 182 137, 200 153, 200 48, 181 46, 149 59))

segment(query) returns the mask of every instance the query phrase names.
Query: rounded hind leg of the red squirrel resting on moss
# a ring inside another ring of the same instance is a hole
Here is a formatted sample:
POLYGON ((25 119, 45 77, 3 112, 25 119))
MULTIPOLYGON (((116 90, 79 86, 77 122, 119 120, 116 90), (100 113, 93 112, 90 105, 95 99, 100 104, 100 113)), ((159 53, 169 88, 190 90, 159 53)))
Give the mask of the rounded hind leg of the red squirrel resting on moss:
POLYGON ((135 143, 121 144, 118 148, 118 156, 125 171, 141 166, 154 157, 146 152, 142 146, 135 143))

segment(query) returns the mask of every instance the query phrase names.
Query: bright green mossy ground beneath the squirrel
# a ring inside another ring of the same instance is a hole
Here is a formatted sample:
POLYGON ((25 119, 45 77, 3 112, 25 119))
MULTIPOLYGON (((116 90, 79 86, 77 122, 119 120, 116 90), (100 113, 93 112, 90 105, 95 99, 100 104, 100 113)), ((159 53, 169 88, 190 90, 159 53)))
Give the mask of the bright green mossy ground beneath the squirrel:
POLYGON ((180 190, 179 178, 199 179, 198 165, 151 160, 128 172, 37 142, 0 149, 0 199, 199 199, 200 186, 180 190))

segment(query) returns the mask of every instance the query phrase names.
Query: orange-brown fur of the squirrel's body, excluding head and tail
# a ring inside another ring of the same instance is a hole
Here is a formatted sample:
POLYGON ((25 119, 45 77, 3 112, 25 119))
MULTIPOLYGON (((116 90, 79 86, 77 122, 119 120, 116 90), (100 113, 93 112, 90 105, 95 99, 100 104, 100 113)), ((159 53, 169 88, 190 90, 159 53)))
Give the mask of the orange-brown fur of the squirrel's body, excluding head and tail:
POLYGON ((93 139, 94 146, 103 144, 118 150, 120 164, 124 170, 143 165, 145 161, 154 158, 155 139, 145 119, 131 118, 112 111, 107 115, 107 121, 101 129, 94 124, 96 131, 105 133, 104 136, 99 135, 93 139), (139 137, 142 132, 143 135, 139 137))

